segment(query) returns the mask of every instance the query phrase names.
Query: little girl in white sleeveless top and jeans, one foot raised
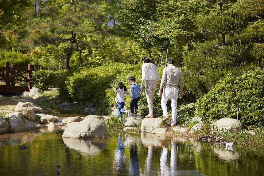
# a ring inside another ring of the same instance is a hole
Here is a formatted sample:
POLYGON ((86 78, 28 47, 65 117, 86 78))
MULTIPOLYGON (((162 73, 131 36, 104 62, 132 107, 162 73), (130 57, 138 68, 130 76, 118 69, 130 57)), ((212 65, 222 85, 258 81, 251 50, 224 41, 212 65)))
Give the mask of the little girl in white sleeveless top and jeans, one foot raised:
POLYGON ((130 110, 126 110, 124 109, 125 106, 125 94, 129 95, 128 92, 126 92, 127 88, 126 86, 120 82, 117 84, 117 88, 115 88, 114 85, 112 85, 115 93, 116 93, 116 97, 115 97, 115 102, 117 103, 117 110, 118 110, 118 118, 119 121, 122 118, 122 113, 126 112, 127 116, 130 115, 130 110))

